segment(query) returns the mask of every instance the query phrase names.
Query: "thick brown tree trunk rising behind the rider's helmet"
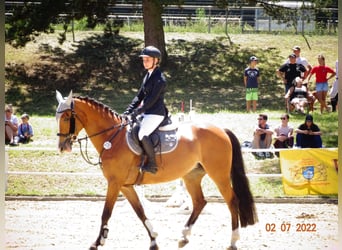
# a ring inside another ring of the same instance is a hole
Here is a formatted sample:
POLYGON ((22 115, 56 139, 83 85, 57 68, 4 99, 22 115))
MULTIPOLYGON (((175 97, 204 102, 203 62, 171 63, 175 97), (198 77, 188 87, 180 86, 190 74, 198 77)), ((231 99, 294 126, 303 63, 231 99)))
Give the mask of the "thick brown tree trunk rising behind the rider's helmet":
POLYGON ((162 64, 167 61, 162 20, 163 6, 159 0, 143 0, 145 46, 153 45, 162 54, 162 64))

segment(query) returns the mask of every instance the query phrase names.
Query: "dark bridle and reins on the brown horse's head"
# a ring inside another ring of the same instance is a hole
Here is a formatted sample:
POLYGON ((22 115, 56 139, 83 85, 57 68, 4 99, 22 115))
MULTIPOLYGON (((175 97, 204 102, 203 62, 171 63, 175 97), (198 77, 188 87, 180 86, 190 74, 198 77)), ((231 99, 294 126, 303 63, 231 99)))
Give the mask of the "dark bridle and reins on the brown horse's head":
POLYGON ((70 108, 67 108, 67 109, 64 109, 64 110, 60 110, 60 111, 56 111, 56 114, 63 114, 64 112, 70 110, 71 112, 71 117, 69 119, 69 133, 67 134, 64 134, 64 133, 57 133, 57 136, 59 137, 65 137, 65 140, 64 140, 64 144, 67 143, 68 141, 70 142, 70 144, 72 145, 74 142, 78 142, 79 145, 80 145, 80 153, 83 157, 83 159, 90 165, 93 165, 93 166, 96 166, 96 165, 99 165, 101 168, 102 168, 102 161, 101 161, 101 157, 102 157, 102 154, 104 153, 105 150, 108 150, 111 148, 111 142, 112 140, 119 134, 120 131, 123 130, 123 128, 125 126, 127 126, 128 124, 127 123, 123 123, 121 122, 120 124, 115 124, 107 129, 104 129, 100 132, 97 132, 95 134, 92 134, 92 135, 86 135, 82 138, 77 138, 77 136, 75 135, 75 131, 76 131, 76 118, 82 123, 82 121, 79 119, 79 117, 77 116, 75 110, 74 110, 74 101, 72 100, 71 103, 70 103, 70 108), (98 161, 97 162, 92 162, 90 160, 90 157, 88 155, 88 139, 89 138, 92 138, 92 137, 95 137, 95 136, 98 136, 98 135, 101 135, 103 133, 106 133, 110 130, 113 130, 115 128, 119 128, 111 137, 109 137, 108 140, 106 140, 103 144, 103 147, 102 147, 102 150, 99 154, 99 157, 98 157, 98 161), (86 145, 85 145, 85 149, 82 150, 82 141, 85 140, 86 142, 86 145))

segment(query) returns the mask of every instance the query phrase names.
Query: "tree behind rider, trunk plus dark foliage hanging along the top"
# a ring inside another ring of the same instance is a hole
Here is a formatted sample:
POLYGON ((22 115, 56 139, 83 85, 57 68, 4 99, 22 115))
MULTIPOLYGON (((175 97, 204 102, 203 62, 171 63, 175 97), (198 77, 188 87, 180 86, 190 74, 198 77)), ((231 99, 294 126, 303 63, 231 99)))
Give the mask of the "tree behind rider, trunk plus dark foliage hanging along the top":
MULTIPOLYGON (((165 6, 175 4, 181 6, 184 0, 131 0, 130 3, 142 3, 145 45, 154 45, 161 50, 163 61, 167 61, 162 13, 165 6)), ((296 29, 298 11, 276 4, 279 0, 214 0, 220 8, 227 8, 229 4, 261 5, 267 14, 281 22, 289 23, 296 29)), ((304 2, 304 0, 303 0, 304 2)), ((338 0, 306 0, 312 3, 315 13, 329 16, 326 7, 336 7, 338 0)), ((63 42, 66 32, 73 20, 87 19, 87 26, 94 28, 98 23, 106 25, 106 31, 112 32, 108 24, 108 6, 116 0, 44 0, 23 1, 23 5, 14 8, 13 15, 6 18, 6 42, 13 46, 25 46, 28 41, 34 40, 41 32, 54 32, 52 24, 60 20, 64 14, 64 33, 60 34, 59 41, 63 42)), ((322 23, 324 25, 324 20, 322 23)), ((316 20, 317 21, 317 20, 316 20)), ((318 20, 321 21, 321 20, 318 20)))

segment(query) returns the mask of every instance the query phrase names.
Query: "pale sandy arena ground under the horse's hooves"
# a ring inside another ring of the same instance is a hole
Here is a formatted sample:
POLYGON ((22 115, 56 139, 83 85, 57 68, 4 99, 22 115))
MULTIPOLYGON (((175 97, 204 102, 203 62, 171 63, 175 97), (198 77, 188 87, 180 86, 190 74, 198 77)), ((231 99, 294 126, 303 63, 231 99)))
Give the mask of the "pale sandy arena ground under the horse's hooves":
MULTIPOLYGON (((6 249, 88 249, 97 237, 103 204, 102 200, 6 201, 6 249)), ((178 249, 189 211, 167 207, 165 202, 145 201, 144 206, 159 234, 159 248, 178 249)), ((256 207, 259 222, 240 230, 239 249, 338 249, 337 204, 257 203, 256 207)), ((209 202, 183 249, 226 249, 230 235, 227 206, 209 202)), ((108 239, 99 249, 148 248, 147 232, 134 211, 127 201, 118 201, 108 239)))

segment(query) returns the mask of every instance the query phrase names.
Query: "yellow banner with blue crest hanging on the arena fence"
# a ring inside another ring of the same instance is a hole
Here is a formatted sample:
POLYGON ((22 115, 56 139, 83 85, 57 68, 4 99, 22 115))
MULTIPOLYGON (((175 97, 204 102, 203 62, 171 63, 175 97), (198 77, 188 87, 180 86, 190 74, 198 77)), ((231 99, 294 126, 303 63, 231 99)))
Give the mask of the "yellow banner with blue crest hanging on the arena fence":
POLYGON ((337 148, 283 150, 280 167, 287 195, 338 193, 337 148))

